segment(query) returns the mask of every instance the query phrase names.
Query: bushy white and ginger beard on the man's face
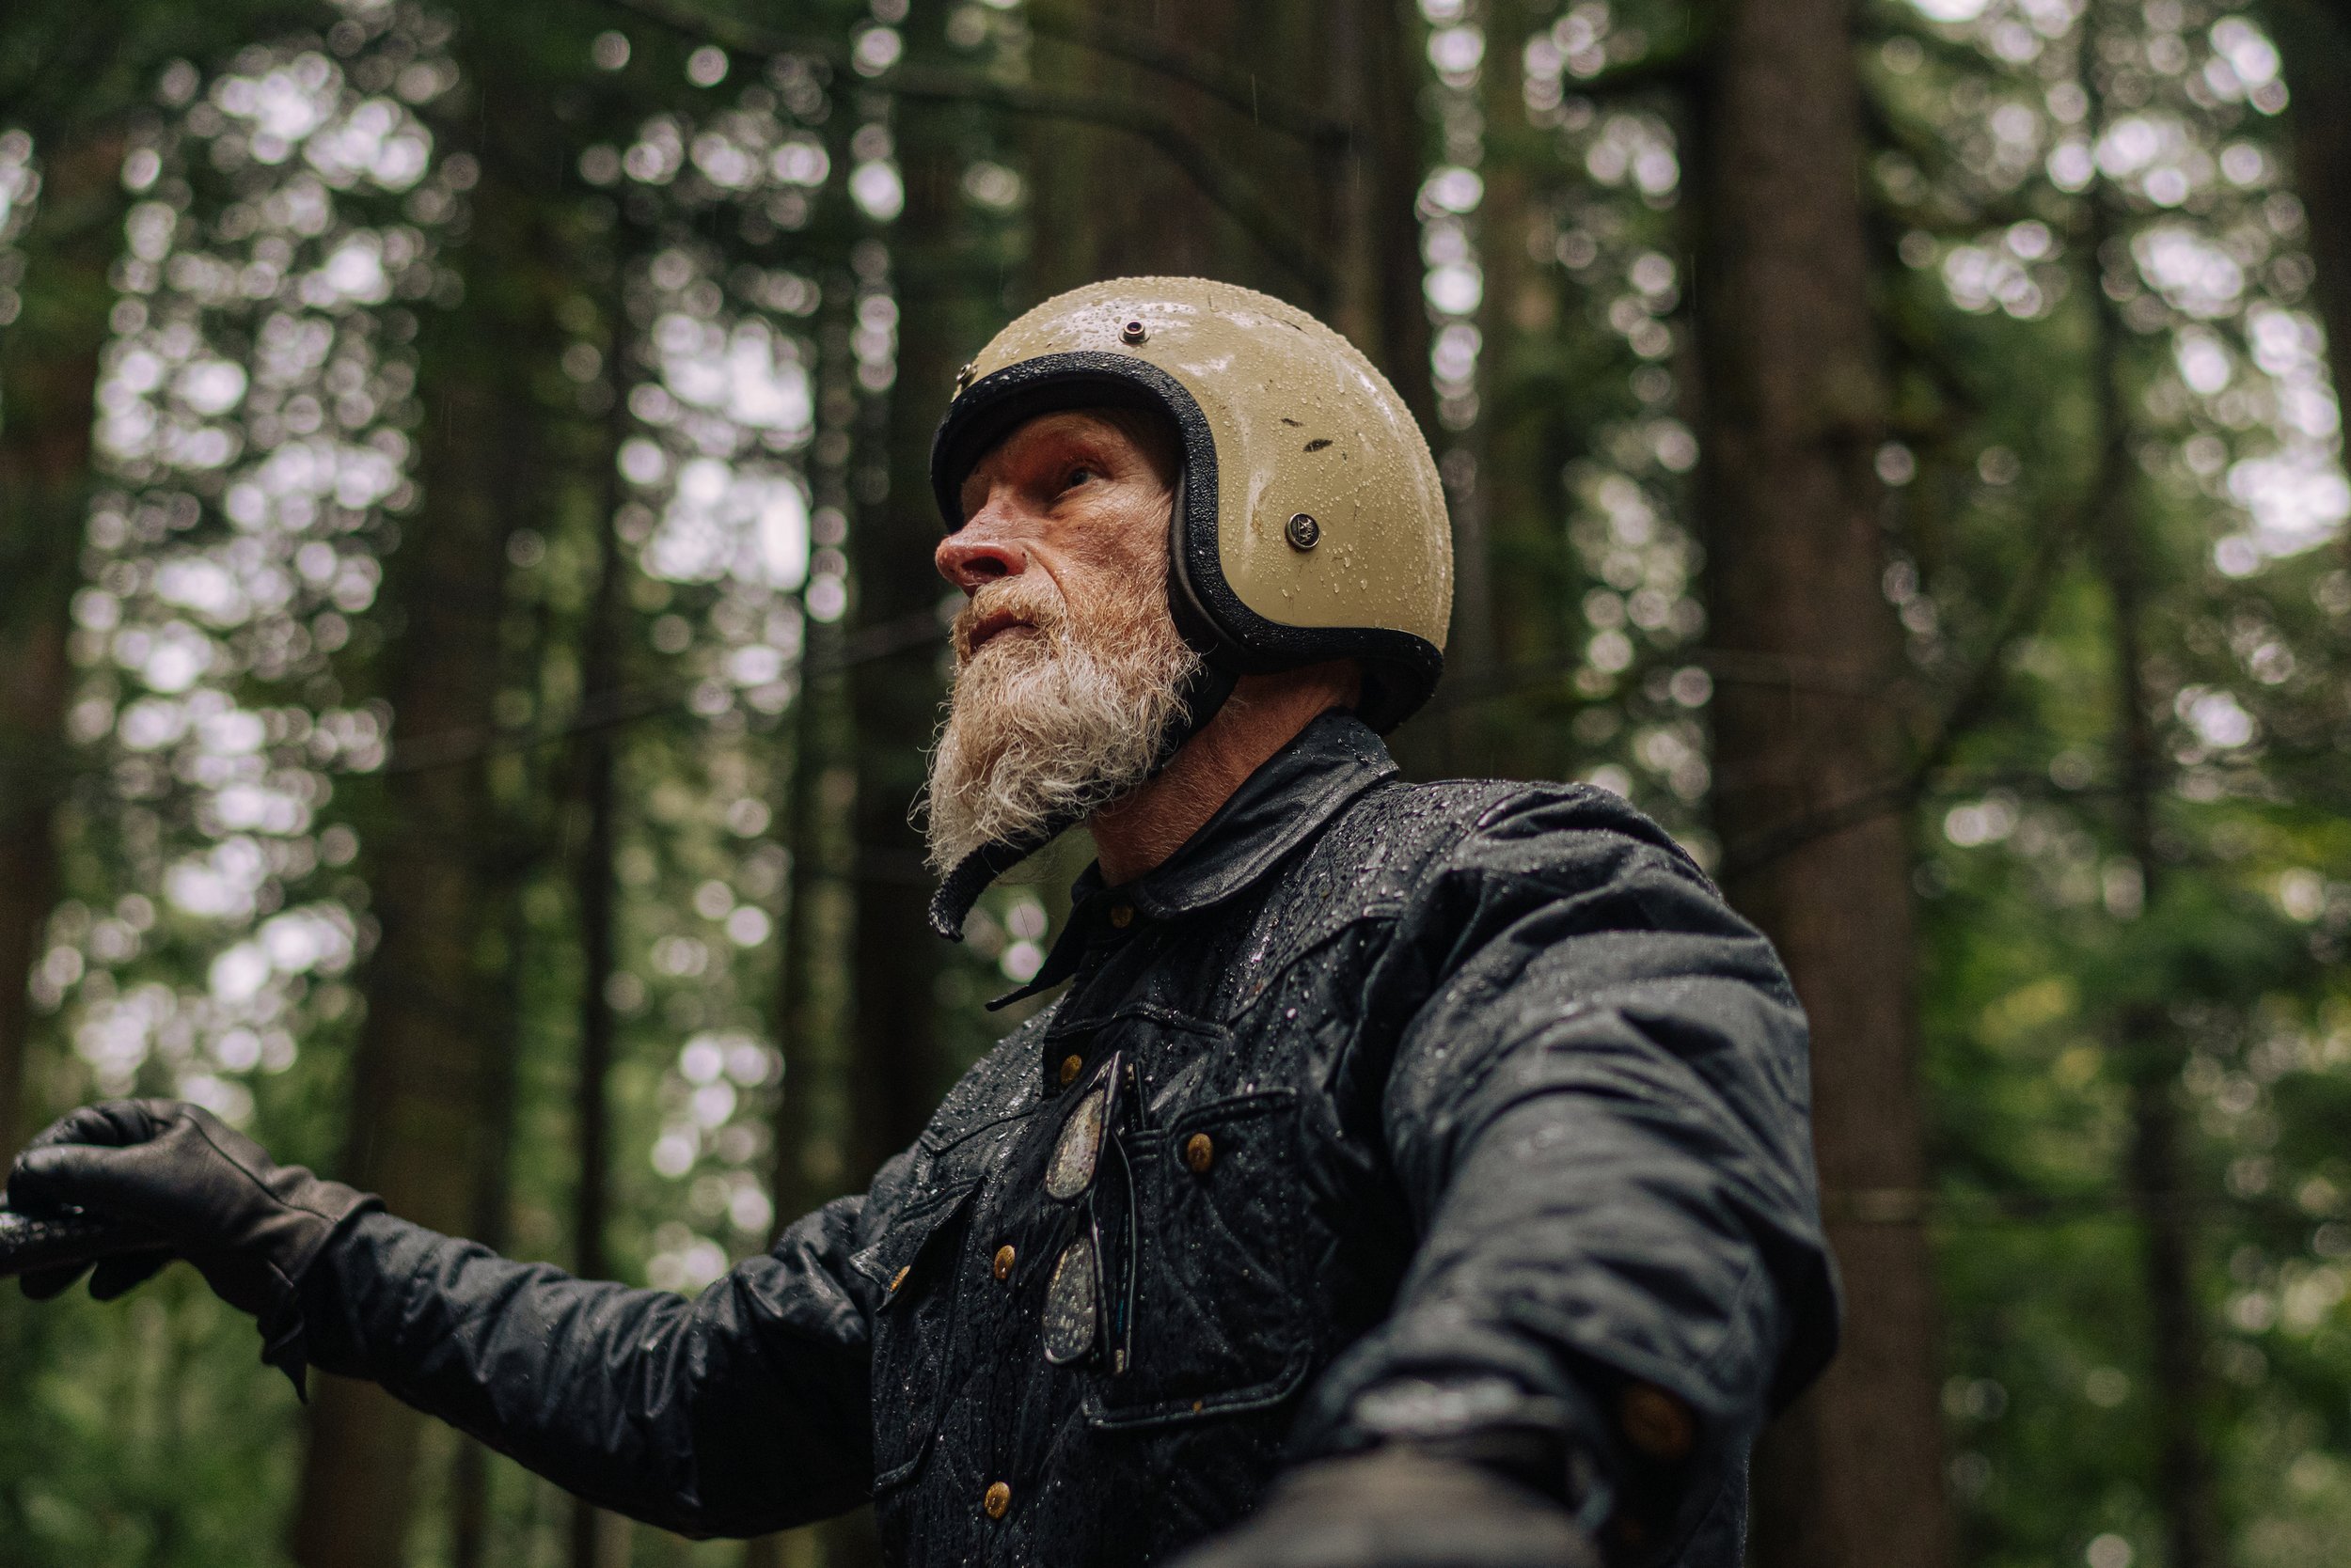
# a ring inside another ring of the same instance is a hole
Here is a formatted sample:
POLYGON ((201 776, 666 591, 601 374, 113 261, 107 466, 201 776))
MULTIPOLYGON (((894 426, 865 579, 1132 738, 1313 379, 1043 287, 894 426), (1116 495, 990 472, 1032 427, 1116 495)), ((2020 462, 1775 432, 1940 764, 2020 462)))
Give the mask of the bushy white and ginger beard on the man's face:
POLYGON ((1168 616, 1164 569, 1112 581, 1081 616, 1041 571, 990 583, 957 614, 924 825, 940 875, 987 844, 1093 816, 1150 778, 1199 654, 1168 616), (997 611, 1034 630, 999 632, 973 654, 973 625, 997 611))

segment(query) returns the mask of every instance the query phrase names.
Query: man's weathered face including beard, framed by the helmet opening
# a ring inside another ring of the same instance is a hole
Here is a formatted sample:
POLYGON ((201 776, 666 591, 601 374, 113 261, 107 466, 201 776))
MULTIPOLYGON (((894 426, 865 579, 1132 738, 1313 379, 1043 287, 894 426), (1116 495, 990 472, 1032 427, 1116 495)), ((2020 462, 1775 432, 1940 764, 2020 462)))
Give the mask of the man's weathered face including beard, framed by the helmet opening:
POLYGON ((969 597, 931 755, 938 870, 1150 776, 1199 663, 1166 607, 1173 487, 1173 435, 1124 411, 1032 418, 964 480, 936 557, 969 597))

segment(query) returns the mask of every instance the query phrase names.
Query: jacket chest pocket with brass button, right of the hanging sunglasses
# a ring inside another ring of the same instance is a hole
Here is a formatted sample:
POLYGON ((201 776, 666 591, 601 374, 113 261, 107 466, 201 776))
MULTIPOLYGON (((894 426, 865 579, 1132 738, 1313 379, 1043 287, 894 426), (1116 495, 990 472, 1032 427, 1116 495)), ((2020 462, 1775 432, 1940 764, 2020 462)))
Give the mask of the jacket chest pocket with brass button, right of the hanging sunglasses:
POLYGON ((1086 1418, 1143 1427, 1288 1399, 1314 1361, 1293 1091, 1197 1105, 1121 1143, 1133 1331, 1086 1418))

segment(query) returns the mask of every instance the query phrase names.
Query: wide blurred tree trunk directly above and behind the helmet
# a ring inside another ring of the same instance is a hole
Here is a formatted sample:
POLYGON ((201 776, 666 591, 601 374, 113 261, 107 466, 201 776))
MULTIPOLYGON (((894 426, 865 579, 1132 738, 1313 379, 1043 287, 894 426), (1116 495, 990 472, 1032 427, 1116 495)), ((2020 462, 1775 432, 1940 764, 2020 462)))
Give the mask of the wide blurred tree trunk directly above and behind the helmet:
POLYGON ((1197 275, 1288 299, 1378 364, 1425 428, 1418 21, 1392 0, 1103 0, 1039 12, 1037 80, 1145 101, 1230 183, 1211 190, 1126 129, 1032 129, 1023 294, 1197 275))

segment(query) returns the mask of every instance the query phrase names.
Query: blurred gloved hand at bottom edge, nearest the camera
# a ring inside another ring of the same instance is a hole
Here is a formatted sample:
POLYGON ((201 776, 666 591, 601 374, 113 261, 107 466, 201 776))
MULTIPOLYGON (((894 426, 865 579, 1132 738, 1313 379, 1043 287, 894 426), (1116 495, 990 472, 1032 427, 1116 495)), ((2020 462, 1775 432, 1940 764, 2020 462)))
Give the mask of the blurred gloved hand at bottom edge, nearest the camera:
POLYGON ((1176 1568, 1599 1568, 1563 1505, 1413 1443, 1317 1460, 1176 1568))

